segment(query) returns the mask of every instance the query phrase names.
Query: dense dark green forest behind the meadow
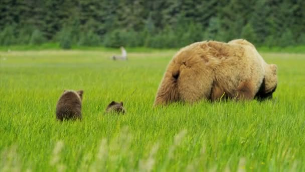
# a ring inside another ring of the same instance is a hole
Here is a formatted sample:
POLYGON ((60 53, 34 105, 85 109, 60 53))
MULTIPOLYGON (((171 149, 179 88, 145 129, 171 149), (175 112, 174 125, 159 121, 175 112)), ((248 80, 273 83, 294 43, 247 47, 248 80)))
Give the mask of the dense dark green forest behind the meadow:
POLYGON ((304 0, 1 0, 0 45, 182 47, 245 38, 305 44, 304 0))

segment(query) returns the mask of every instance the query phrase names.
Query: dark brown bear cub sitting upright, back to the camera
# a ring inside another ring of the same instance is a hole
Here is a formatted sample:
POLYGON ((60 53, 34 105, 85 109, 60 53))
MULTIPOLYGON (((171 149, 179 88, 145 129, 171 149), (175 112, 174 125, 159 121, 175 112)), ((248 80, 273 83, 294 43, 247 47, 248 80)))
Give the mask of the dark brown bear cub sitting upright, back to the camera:
POLYGON ((82 99, 84 91, 64 91, 56 105, 56 119, 82 119, 82 99))

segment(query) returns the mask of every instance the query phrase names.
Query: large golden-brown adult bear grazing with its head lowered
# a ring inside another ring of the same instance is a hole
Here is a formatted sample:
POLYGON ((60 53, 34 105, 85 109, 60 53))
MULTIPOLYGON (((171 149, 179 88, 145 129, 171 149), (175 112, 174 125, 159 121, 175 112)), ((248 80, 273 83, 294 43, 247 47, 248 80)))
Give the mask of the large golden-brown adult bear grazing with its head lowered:
POLYGON ((201 99, 251 100, 264 78, 262 94, 276 87, 276 65, 268 65, 248 41, 196 42, 182 48, 170 61, 155 105, 201 99))

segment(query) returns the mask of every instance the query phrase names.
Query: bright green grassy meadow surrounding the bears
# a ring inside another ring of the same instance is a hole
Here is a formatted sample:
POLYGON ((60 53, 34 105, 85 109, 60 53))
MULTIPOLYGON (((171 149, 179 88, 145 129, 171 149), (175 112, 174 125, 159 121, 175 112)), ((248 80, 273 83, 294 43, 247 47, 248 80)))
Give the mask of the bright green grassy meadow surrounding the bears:
POLYGON ((153 108, 175 51, 111 51, 0 52, 0 171, 305 170, 305 54, 262 53, 271 101, 153 108), (64 89, 84 90, 82 121, 56 121, 64 89), (127 114, 105 115, 112 100, 127 114))

